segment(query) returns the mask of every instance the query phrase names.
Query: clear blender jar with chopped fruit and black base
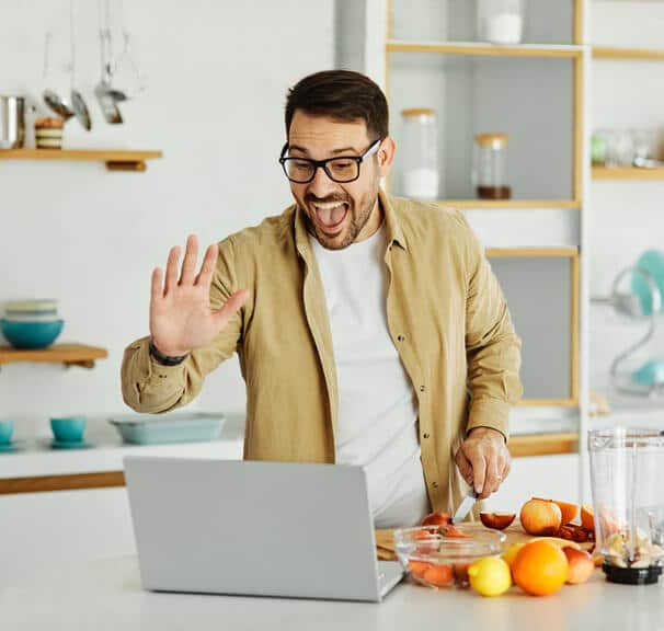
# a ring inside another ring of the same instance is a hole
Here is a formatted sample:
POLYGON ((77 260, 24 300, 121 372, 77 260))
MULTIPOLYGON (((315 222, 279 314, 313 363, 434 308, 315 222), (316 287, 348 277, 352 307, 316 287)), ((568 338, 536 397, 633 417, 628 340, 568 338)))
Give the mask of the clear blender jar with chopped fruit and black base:
POLYGON ((588 433, 596 549, 607 581, 656 583, 664 565, 664 435, 614 427, 588 433))

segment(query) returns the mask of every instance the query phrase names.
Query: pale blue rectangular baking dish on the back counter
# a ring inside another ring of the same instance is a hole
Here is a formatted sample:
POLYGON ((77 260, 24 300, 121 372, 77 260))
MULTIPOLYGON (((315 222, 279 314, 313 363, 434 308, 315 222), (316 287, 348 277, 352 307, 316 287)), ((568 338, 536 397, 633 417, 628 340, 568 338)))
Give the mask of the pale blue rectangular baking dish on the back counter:
POLYGON ((110 418, 125 443, 157 445, 214 440, 221 434, 224 414, 175 413, 154 416, 131 414, 110 418))

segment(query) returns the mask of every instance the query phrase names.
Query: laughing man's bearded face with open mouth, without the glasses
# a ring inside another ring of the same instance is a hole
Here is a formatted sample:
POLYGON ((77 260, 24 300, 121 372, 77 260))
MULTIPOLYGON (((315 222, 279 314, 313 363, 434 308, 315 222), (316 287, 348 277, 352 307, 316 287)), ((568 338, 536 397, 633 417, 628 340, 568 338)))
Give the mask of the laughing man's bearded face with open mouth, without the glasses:
MULTIPOLYGON (((377 140, 369 138, 364 121, 342 123, 301 110, 295 112, 288 136, 288 156, 311 160, 362 156, 377 140)), ((293 196, 307 216, 309 231, 323 248, 347 248, 379 228, 378 187, 390 161, 391 156, 379 148, 377 154, 362 162, 359 177, 354 182, 333 182, 323 169, 318 169, 307 184, 290 182, 293 196)))

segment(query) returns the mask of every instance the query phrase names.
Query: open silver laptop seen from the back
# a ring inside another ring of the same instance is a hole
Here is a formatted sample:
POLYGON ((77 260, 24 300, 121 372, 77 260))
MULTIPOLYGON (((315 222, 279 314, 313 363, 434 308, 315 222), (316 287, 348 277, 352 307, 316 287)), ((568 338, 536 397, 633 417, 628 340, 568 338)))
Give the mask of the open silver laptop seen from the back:
POLYGON ((362 467, 124 464, 145 589, 379 601, 402 577, 376 559, 362 467))

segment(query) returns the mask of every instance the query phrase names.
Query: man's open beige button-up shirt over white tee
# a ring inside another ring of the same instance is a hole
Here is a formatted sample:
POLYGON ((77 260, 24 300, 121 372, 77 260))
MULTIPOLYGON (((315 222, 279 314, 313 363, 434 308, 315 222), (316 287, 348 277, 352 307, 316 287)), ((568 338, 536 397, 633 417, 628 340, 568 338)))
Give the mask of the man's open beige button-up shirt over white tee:
MULTIPOLYGON (((422 468, 432 507, 451 512, 465 483, 454 461, 466 434, 508 434, 522 394, 520 342, 495 276, 457 210, 380 193, 390 335, 419 404, 422 468)), ((357 271, 362 274, 362 269, 357 271)), ((337 385, 324 290, 301 210, 290 206, 219 243, 215 309, 239 289, 244 307, 214 343, 179 366, 157 364, 148 337, 122 366, 138 412, 185 405, 234 352, 247 383, 244 458, 334 462, 337 385)))

